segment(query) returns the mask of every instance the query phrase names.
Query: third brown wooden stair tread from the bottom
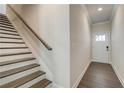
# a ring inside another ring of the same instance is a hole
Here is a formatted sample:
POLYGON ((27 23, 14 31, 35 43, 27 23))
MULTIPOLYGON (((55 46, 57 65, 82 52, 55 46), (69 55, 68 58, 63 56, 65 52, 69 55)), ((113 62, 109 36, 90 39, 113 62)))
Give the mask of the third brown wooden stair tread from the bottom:
POLYGON ((8 70, 8 71, 0 72, 0 78, 4 78, 4 77, 7 77, 7 76, 10 76, 10 75, 19 73, 19 72, 23 72, 23 71, 26 71, 26 70, 29 70, 29 69, 32 69, 32 68, 38 67, 38 66, 40 66, 40 65, 39 64, 31 64, 31 65, 26 65, 26 66, 23 66, 23 67, 11 69, 11 70, 8 70))

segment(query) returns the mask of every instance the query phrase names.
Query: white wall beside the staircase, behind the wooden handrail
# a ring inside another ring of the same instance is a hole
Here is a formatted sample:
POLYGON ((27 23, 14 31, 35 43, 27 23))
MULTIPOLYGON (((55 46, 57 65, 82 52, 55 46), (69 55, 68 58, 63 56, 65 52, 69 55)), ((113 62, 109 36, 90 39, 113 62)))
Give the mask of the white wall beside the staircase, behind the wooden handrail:
POLYGON ((15 15, 8 8, 8 16, 39 60, 47 77, 56 87, 69 87, 69 5, 28 4, 12 7, 53 48, 48 51, 18 18, 14 18, 15 15))

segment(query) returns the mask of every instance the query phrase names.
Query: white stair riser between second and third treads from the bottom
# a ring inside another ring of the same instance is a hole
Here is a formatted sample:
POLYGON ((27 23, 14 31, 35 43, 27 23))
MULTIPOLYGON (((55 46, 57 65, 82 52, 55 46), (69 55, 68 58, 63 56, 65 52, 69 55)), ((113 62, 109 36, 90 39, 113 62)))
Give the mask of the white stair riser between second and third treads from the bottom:
POLYGON ((3 84, 6 84, 6 83, 9 83, 11 81, 14 81, 16 79, 22 78, 24 76, 27 76, 27 75, 29 75, 31 73, 34 73, 36 71, 39 71, 39 70, 40 70, 40 67, 35 67, 35 68, 29 69, 29 70, 26 70, 26 71, 23 71, 23 72, 14 74, 14 75, 10 75, 10 76, 1 78, 0 79, 0 85, 3 85, 3 84))

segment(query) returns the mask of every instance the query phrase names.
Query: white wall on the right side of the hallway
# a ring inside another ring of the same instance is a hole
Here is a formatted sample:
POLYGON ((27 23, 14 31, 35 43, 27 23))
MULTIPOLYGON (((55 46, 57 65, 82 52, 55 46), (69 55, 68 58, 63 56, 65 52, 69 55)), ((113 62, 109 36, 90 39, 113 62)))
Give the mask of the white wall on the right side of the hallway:
POLYGON ((119 5, 112 20, 112 65, 124 86, 124 5, 119 5))

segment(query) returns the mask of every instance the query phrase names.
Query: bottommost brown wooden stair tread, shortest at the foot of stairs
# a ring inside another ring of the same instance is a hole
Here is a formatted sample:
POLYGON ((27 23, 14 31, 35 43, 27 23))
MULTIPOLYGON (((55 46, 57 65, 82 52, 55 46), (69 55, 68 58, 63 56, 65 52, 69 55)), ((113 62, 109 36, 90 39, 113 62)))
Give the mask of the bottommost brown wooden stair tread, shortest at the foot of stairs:
POLYGON ((45 88, 47 87, 49 84, 51 84, 52 82, 48 79, 43 79, 40 82, 32 85, 30 88, 45 88))

